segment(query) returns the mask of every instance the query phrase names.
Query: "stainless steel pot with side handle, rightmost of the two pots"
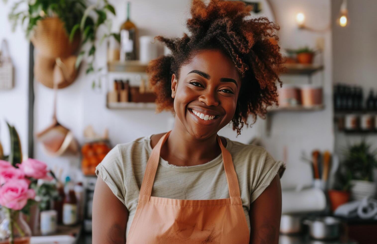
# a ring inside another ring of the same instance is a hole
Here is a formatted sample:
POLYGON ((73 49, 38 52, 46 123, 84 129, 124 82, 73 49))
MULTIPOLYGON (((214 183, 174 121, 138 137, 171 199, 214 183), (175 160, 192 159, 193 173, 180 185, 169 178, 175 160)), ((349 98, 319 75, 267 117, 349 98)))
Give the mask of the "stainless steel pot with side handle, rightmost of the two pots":
POLYGON ((304 224, 309 226, 311 238, 319 240, 330 240, 339 238, 340 221, 337 218, 326 216, 314 219, 305 219, 304 224))

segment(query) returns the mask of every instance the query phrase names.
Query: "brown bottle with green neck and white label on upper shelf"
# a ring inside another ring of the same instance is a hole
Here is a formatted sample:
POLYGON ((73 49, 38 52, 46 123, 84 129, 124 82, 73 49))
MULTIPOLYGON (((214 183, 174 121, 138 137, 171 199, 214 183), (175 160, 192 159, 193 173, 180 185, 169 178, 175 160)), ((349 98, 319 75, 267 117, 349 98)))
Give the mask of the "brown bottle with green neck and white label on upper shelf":
POLYGON ((130 20, 130 2, 127 2, 127 20, 120 27, 120 61, 136 60, 136 25, 130 20))

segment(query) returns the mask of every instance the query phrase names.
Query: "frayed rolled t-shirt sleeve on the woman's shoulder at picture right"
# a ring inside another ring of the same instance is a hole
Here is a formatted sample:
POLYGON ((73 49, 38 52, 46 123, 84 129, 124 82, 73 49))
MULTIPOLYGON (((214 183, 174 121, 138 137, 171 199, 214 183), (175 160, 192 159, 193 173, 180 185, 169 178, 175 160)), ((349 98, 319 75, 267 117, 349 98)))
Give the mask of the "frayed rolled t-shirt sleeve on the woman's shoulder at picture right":
POLYGON ((256 167, 253 175, 255 181, 253 183, 254 189, 251 191, 250 203, 262 194, 277 174, 281 178, 285 171, 285 163, 283 161, 275 161, 267 151, 261 155, 261 160, 256 167))

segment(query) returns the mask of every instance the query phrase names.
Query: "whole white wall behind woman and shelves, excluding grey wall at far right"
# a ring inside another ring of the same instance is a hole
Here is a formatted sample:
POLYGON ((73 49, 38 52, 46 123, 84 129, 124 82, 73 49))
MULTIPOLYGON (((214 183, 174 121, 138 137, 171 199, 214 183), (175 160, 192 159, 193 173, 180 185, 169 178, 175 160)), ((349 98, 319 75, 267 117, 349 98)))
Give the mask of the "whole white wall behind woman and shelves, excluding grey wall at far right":
MULTIPOLYGON (((9 1, 5 11, 0 9, 2 25, 5 23, 9 28, 8 20, 3 15, 8 13, 9 1)), ((114 20, 113 27, 118 28, 125 19, 126 3, 125 1, 112 1, 115 3, 117 18, 114 20)), ((280 44, 282 48, 296 48, 299 46, 314 46, 317 37, 325 40, 325 71, 323 79, 325 81, 325 104, 326 109, 319 112, 297 112, 297 113, 279 113, 273 116, 273 127, 271 135, 268 137, 265 133, 265 121, 258 118, 257 123, 250 129, 246 127, 242 134, 236 138, 236 132, 231 130, 228 125, 222 129, 219 134, 229 137, 232 140, 248 143, 255 135, 264 140, 265 147, 271 152, 276 160, 283 160, 283 148, 287 147, 288 169, 282 179, 285 186, 306 181, 310 183, 311 173, 308 165, 303 164, 300 160, 302 151, 307 154, 313 149, 325 150, 333 149, 333 131, 332 131, 332 110, 331 110, 331 32, 317 34, 302 31, 296 28, 294 17, 298 11, 302 11, 307 16, 307 24, 313 28, 323 28, 330 21, 330 3, 328 0, 318 1, 298 1, 298 0, 273 0, 273 8, 277 14, 277 23, 280 24, 279 31, 280 44)), ((140 29, 140 35, 167 35, 181 36, 186 31, 185 20, 190 16, 189 0, 133 0, 131 1, 131 18, 140 29)), ((20 29, 18 29, 20 32, 20 29)), ((2 32, 0 32, 2 33, 2 32)), ((9 31, 3 35, 9 35, 9 31)), ((18 33, 18 32, 17 32, 18 33)), ((9 39, 18 41, 27 48, 27 42, 23 39, 23 34, 12 34, 9 39)), ((9 97, 18 101, 18 105, 11 106, 3 116, 11 120, 17 120, 20 123, 21 140, 26 144, 27 124, 26 124, 26 78, 27 78, 27 57, 23 57, 22 48, 18 48, 12 43, 15 50, 12 57, 15 62, 20 63, 18 67, 19 80, 25 80, 24 83, 18 83, 19 87, 12 91, 4 93, 7 98, 0 97, 0 104, 8 101, 9 97), (21 51, 16 51, 21 50, 21 51), (18 90, 19 89, 19 90, 18 90), (13 112, 22 107, 24 117, 15 115, 13 112), (22 122, 21 122, 22 121, 22 122)), ((98 63, 105 63, 103 56, 105 45, 98 48, 98 63)), ((109 128, 110 139, 113 145, 131 141, 144 135, 156 134, 167 131, 167 123, 171 115, 168 112, 155 114, 153 110, 108 110, 105 107, 106 91, 93 92, 90 88, 93 78, 98 75, 87 76, 84 74, 85 67, 72 86, 59 90, 58 94, 58 120, 66 127, 74 131, 75 136, 80 143, 83 143, 83 129, 88 124, 92 124, 94 129, 102 132, 105 127, 109 128)), ((114 74, 112 77, 130 77, 132 81, 135 74, 114 74)), ((314 81, 320 80, 321 75, 316 75, 314 81)), ((284 81, 306 82, 305 77, 285 77, 284 81)), ((35 82, 35 132, 42 130, 51 123, 52 115, 52 90, 35 82)), ((1 94, 3 95, 3 94, 1 94)), ((2 105, 0 105, 2 106, 2 105)), ((1 107, 2 108, 2 107, 1 107)), ((1 110, 3 111, 3 110, 1 110)), ((2 132, 3 138, 7 138, 2 132)), ((40 145, 35 144, 35 157, 50 163, 59 165, 73 164, 78 165, 79 159, 75 157, 50 158, 44 155, 40 145)))

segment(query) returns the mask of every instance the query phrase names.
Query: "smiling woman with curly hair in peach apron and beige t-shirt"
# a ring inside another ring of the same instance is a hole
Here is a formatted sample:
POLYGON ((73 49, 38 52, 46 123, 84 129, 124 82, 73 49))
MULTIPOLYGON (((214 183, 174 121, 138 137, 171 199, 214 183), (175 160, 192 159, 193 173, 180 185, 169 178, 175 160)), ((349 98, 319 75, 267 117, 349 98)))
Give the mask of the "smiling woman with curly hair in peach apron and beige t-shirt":
MULTIPOLYGON (((149 63, 172 130, 118 144, 97 166, 93 243, 277 243, 285 164, 217 133, 277 103, 278 29, 239 1, 193 0, 191 35, 149 63), (109 209, 109 206, 111 208, 109 209)), ((280 82, 281 83, 281 82, 280 82)))

